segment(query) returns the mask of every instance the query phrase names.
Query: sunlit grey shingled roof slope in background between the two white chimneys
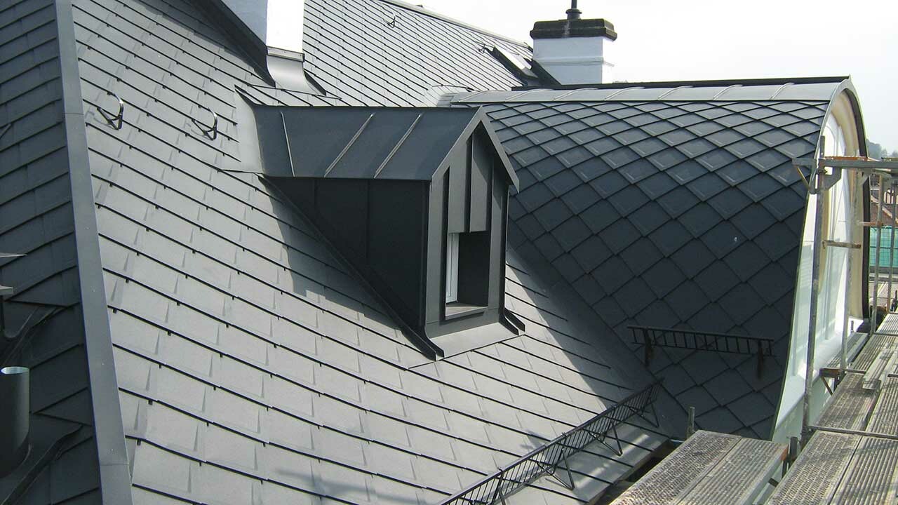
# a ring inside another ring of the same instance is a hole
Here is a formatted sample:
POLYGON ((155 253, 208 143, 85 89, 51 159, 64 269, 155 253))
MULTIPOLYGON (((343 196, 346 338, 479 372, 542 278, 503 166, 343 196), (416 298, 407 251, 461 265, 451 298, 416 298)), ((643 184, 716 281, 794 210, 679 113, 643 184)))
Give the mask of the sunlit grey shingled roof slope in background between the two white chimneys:
POLYGON ((383 0, 307 0, 305 68, 348 105, 434 105, 450 91, 521 85, 490 48, 530 49, 383 0))

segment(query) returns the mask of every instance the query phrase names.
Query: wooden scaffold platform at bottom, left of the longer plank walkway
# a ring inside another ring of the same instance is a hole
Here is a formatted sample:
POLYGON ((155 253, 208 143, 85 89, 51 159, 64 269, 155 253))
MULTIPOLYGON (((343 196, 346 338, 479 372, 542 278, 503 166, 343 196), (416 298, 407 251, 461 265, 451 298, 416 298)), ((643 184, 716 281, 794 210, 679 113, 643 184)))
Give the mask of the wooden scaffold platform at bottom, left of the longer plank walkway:
POLYGON ((787 452, 785 444, 700 430, 612 505, 750 504, 787 452))

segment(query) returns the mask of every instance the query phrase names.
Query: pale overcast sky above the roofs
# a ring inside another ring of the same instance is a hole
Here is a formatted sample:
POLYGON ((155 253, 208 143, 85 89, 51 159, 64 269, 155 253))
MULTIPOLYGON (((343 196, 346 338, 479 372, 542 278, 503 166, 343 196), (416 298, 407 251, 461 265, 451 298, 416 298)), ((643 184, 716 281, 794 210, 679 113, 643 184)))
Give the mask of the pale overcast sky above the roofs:
MULTIPOLYGON (((415 4, 421 1, 411 0, 415 4)), ((535 21, 566 0, 423 0, 424 6, 533 44, 535 21)), ((851 75, 867 138, 898 149, 898 1, 580 0, 614 24, 614 80, 851 75)))

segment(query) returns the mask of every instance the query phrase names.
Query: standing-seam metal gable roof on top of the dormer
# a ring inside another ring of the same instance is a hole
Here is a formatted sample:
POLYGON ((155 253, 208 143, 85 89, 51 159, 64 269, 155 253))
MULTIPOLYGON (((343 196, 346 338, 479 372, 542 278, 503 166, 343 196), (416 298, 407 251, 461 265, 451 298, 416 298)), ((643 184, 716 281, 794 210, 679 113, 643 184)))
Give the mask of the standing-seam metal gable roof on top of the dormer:
POLYGON ((254 107, 268 175, 430 181, 475 128, 515 184, 486 115, 477 109, 415 107, 254 107))

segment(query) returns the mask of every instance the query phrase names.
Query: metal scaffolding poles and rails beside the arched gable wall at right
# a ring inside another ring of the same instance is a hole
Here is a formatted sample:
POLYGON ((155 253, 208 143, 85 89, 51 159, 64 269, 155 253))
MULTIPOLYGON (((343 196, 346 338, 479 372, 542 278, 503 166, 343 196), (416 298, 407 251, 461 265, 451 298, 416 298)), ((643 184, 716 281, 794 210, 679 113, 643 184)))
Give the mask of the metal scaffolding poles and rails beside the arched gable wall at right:
MULTIPOLYGON (((821 153, 823 153, 823 146, 821 146, 821 153)), ((876 194, 876 200, 878 202, 877 211, 876 211, 876 220, 875 221, 861 221, 859 224, 863 227, 873 227, 880 233, 877 233, 877 240, 880 241, 877 243, 876 247, 876 259, 873 261, 873 296, 869 302, 869 323, 867 324, 867 332, 868 339, 872 339, 873 332, 876 328, 876 323, 878 321, 878 307, 879 307, 879 283, 880 283, 880 255, 883 249, 882 247, 882 228, 883 228, 883 208, 885 207, 886 194, 891 191, 894 195, 896 189, 898 189, 898 160, 889 159, 885 161, 879 161, 872 158, 867 158, 866 156, 820 156, 818 158, 808 157, 808 158, 797 158, 793 160, 793 164, 796 168, 797 173, 799 173, 805 182, 808 192, 812 195, 815 195, 816 201, 816 212, 814 214, 814 249, 812 254, 812 267, 811 267, 811 298, 810 298, 810 316, 808 321, 808 334, 807 334, 807 356, 806 356, 806 375, 805 375, 805 392, 802 399, 802 442, 803 445, 806 444, 808 439, 810 438, 811 432, 813 431, 813 427, 810 424, 811 417, 811 393, 814 385, 814 351, 816 348, 816 338, 817 338, 817 311, 819 306, 819 297, 820 297, 820 279, 821 279, 821 262, 823 258, 823 248, 829 247, 843 247, 848 248, 850 251, 859 250, 863 247, 863 244, 860 244, 860 237, 854 236, 854 228, 855 226, 848 226, 848 241, 847 242, 837 242, 830 240, 828 237, 823 236, 825 231, 823 230, 823 213, 825 211, 825 202, 828 196, 828 191, 832 189, 833 186, 837 182, 840 182, 842 179, 842 173, 845 171, 850 171, 852 173, 860 173, 861 178, 858 182, 858 190, 855 190, 853 194, 850 196, 852 208, 858 208, 858 195, 860 194, 859 188, 865 182, 869 182, 869 187, 871 192, 876 189, 878 190, 876 194), (805 173, 802 172, 802 169, 810 169, 811 173, 806 178, 805 173)), ((894 216, 896 210, 898 210, 898 199, 892 198, 892 212, 891 215, 894 220, 894 216)), ((892 226, 892 237, 889 241, 890 245, 890 258, 892 257, 892 253, 894 253, 894 226, 892 226)), ((850 297, 850 288, 851 288, 851 259, 849 257, 847 272, 846 272, 846 297, 850 297)), ((869 261, 867 262, 869 264, 869 261)), ((891 307, 891 296, 892 296, 892 287, 893 287, 893 268, 888 269, 888 292, 886 293, 886 309, 891 307)), ((868 279, 864 279, 865 282, 868 282, 868 279)), ((867 303, 867 300, 865 300, 867 303)), ((844 327, 841 332, 841 349, 839 356, 839 374, 838 378, 844 377, 846 369, 848 368, 848 364, 846 363, 846 341, 849 338, 849 318, 848 316, 848 307, 849 303, 846 301, 844 304, 844 313, 842 320, 844 321, 844 327)), ((837 379, 838 380, 838 379, 837 379)))

